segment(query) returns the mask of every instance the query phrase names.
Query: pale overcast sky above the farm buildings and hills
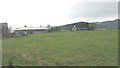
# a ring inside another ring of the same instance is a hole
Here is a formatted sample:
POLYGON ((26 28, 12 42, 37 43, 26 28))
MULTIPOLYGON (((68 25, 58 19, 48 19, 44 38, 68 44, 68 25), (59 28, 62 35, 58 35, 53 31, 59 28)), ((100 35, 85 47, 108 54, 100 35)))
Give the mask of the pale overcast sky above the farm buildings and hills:
POLYGON ((59 26, 118 18, 118 0, 0 0, 0 23, 59 26))

